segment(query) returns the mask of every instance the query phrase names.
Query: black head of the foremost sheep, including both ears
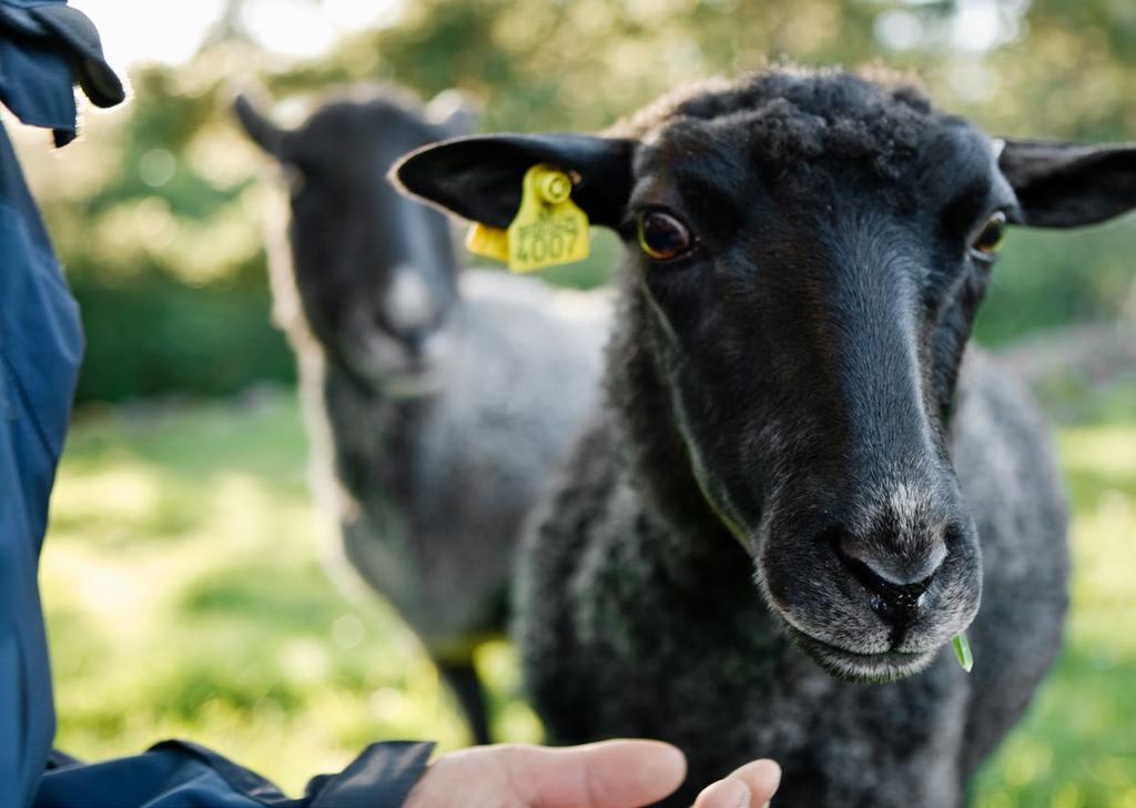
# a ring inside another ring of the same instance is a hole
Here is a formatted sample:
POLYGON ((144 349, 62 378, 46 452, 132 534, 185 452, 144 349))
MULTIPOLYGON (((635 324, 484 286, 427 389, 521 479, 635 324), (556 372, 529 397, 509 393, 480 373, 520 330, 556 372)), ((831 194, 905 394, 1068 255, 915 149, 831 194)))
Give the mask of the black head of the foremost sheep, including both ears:
MULTIPOLYGON (((629 135, 461 139, 396 170, 493 226, 529 165, 569 170, 630 256, 621 343, 649 355, 653 381, 617 389, 665 391, 662 413, 619 402, 632 440, 685 448, 698 507, 744 544, 818 663, 867 681, 921 669, 979 606, 947 436, 1002 227, 1131 208, 1136 151, 1001 150, 911 90, 838 74, 701 92, 629 135)), ((649 488, 684 474, 642 465, 649 488)))

